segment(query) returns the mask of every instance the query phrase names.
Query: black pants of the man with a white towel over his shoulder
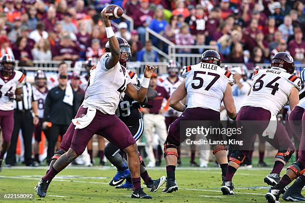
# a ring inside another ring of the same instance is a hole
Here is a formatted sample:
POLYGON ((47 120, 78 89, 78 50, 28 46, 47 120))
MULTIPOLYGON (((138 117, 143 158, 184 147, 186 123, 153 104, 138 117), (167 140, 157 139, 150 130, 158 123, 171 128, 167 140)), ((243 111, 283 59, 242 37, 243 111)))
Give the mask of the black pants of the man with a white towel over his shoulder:
POLYGON ((62 136, 66 133, 69 125, 57 125, 53 124, 48 130, 46 138, 48 140, 48 150, 47 150, 47 163, 51 162, 51 158, 54 155, 54 148, 58 139, 58 135, 62 136))

